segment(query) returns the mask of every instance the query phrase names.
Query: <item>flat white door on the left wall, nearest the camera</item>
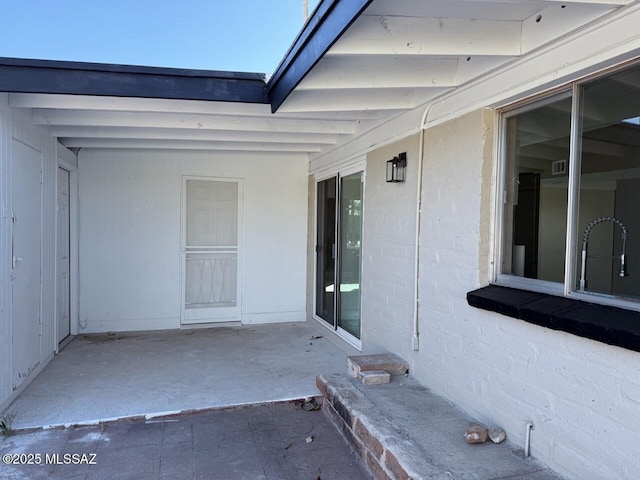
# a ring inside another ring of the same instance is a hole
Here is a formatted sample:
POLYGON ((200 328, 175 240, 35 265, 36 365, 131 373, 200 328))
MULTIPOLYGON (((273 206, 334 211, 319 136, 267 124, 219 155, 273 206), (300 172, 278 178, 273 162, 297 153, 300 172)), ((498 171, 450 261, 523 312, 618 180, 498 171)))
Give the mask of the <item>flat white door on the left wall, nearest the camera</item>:
POLYGON ((13 387, 40 362, 42 156, 13 140, 12 327, 13 387))

